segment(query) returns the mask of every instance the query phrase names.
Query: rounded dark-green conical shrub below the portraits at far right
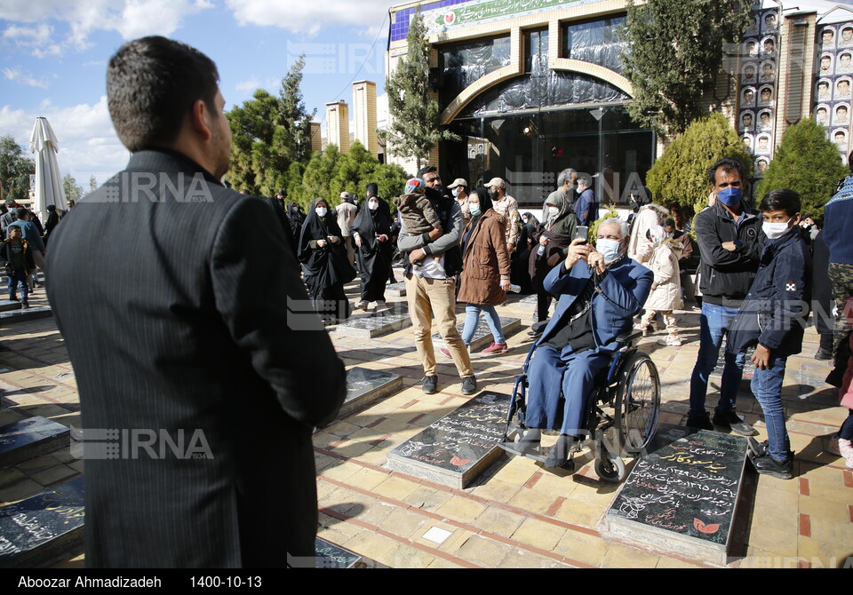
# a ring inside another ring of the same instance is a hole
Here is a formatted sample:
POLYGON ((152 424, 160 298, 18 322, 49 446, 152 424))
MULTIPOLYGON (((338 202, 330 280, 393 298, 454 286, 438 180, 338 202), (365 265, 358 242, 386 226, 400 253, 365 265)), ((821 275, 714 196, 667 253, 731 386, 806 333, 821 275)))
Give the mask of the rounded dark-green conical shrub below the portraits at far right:
POLYGON ((803 216, 820 222, 824 205, 848 173, 838 147, 826 139, 826 129, 809 117, 785 131, 764 178, 755 186, 755 203, 770 190, 789 188, 800 194, 803 216))

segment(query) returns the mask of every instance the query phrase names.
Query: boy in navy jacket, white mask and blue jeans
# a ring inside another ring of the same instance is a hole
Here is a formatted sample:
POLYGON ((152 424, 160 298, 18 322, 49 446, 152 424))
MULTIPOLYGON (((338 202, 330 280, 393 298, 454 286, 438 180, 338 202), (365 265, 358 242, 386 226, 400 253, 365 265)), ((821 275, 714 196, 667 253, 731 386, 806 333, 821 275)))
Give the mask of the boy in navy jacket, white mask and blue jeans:
POLYGON ((732 325, 729 350, 755 346, 752 390, 764 411, 768 440, 752 456, 755 470, 789 480, 793 472, 782 406, 782 380, 789 355, 802 350, 809 315, 811 260, 800 229, 800 195, 774 190, 761 200, 761 265, 732 325))

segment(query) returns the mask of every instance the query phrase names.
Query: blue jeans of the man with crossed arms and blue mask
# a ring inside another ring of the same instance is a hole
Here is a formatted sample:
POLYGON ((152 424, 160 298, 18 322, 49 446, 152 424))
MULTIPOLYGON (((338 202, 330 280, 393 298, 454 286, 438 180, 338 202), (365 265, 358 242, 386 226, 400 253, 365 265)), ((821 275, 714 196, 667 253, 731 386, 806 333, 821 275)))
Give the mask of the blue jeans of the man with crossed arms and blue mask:
MULTIPOLYGON (((690 417, 705 413, 705 398, 708 393, 708 377, 716 368, 720 356, 722 339, 729 334, 729 326, 735 320, 737 308, 725 305, 708 304, 702 301, 702 315, 699 317, 699 354, 696 367, 690 377, 690 417)), ((744 376, 745 353, 725 353, 725 368, 722 369, 720 402, 717 411, 735 408, 737 389, 744 376)))

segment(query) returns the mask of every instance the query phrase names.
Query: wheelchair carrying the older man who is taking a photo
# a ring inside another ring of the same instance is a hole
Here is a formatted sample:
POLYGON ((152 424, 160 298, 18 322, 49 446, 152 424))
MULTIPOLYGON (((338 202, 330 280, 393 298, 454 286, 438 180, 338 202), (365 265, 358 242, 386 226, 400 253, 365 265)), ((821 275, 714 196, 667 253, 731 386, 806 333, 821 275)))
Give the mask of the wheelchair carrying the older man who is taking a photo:
MULTIPOLYGON (((545 324, 546 321, 538 323, 542 327, 545 324)), ((614 353, 610 366, 600 370, 594 380, 594 395, 588 401, 586 414, 586 434, 575 443, 569 461, 562 465, 563 469, 573 471, 574 456, 588 447, 594 451, 595 472, 602 480, 624 480, 626 466, 623 458, 640 454, 654 438, 660 413, 660 377, 655 362, 647 353, 638 350, 636 343, 640 337, 642 331, 639 330, 617 337, 621 346, 614 353)), ((516 446, 522 434, 519 430, 527 429, 524 425, 529 387, 527 371, 537 346, 538 342, 530 348, 522 376, 515 379, 506 429, 498 446, 510 455, 526 456, 544 463, 544 453, 525 452, 516 446)), ((563 401, 562 394, 560 400, 563 401)))

